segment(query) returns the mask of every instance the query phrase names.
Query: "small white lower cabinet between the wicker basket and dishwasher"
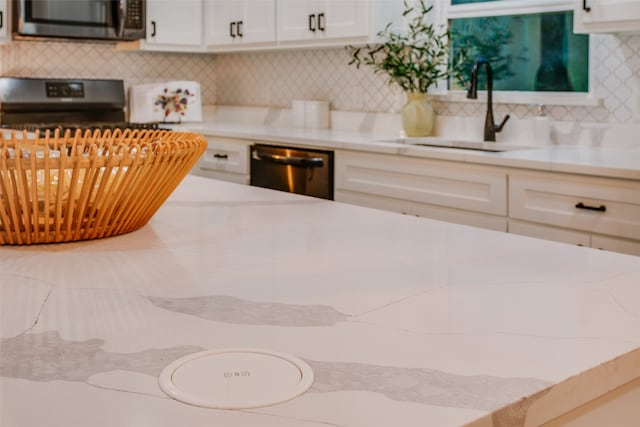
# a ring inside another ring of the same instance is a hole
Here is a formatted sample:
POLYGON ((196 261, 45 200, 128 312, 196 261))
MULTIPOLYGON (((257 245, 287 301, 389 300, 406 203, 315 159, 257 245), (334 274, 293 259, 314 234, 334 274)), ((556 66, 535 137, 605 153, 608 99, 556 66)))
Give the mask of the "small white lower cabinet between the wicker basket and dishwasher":
POLYGON ((249 184, 249 152, 253 141, 208 137, 204 152, 192 173, 222 181, 249 184))

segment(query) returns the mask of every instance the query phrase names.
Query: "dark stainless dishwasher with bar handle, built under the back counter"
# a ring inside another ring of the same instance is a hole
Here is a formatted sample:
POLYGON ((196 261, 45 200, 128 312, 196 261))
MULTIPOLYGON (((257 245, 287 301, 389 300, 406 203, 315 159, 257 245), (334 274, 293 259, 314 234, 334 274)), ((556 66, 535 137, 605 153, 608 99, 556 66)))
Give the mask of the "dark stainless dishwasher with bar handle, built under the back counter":
POLYGON ((253 145, 251 185, 333 200, 333 152, 253 145))

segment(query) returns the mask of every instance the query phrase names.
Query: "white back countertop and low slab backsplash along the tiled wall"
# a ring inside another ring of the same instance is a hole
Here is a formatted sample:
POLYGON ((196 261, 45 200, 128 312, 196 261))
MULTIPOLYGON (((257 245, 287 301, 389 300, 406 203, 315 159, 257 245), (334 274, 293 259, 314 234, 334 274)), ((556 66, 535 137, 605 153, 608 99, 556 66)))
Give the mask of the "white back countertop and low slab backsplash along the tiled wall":
MULTIPOLYGON (((599 130, 600 139, 604 139, 604 142, 586 138, 583 141, 574 141, 572 144, 536 146, 522 143, 531 148, 482 152, 387 142, 400 136, 394 115, 373 114, 369 117, 360 113, 335 112, 332 116, 335 126, 332 128, 305 129, 290 125, 287 110, 275 110, 276 113, 273 111, 219 107, 215 113, 205 115, 205 121, 201 123, 185 123, 174 128, 211 137, 245 139, 298 147, 355 150, 507 168, 640 180, 640 142, 637 138, 640 126, 636 129, 634 126, 620 125, 607 132, 599 130), (245 117, 242 117, 243 115, 245 117)), ((515 120, 510 122, 512 121, 515 120)), ((510 125, 514 124, 510 123, 510 125)), ((526 127, 523 129, 522 132, 526 132, 526 127)), ((512 135, 517 133, 513 131, 512 135)), ((575 129, 567 131, 567 134, 575 134, 576 138, 585 133, 588 132, 582 130, 580 133, 575 129)), ((565 135, 562 139, 570 140, 571 138, 565 135)))

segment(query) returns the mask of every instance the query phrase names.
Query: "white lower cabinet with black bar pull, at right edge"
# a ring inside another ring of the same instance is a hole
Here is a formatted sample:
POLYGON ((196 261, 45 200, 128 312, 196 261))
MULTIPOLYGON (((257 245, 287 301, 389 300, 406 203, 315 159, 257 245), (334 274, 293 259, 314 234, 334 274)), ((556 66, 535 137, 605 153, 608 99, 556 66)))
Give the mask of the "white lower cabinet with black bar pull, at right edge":
POLYGON ((509 232, 640 255, 640 182, 511 172, 509 232))

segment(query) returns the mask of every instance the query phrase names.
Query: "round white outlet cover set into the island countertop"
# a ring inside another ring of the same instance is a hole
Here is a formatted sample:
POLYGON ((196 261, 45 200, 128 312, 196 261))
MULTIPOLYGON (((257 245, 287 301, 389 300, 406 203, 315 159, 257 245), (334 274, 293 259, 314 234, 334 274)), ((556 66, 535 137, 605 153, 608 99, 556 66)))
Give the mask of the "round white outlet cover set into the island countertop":
POLYGON ((158 380, 170 397, 216 409, 275 405, 300 396, 313 371, 290 354, 253 348, 207 350, 176 360, 158 380))

